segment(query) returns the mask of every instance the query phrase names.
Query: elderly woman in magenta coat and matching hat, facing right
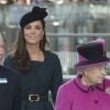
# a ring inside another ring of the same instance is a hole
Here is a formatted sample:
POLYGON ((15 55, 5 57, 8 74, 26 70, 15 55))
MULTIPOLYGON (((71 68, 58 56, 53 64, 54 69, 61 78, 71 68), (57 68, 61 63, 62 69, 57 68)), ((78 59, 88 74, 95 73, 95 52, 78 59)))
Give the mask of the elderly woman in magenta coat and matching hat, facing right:
POLYGON ((110 110, 110 80, 106 78, 103 40, 77 46, 79 62, 75 65, 76 78, 63 84, 55 110, 110 110))

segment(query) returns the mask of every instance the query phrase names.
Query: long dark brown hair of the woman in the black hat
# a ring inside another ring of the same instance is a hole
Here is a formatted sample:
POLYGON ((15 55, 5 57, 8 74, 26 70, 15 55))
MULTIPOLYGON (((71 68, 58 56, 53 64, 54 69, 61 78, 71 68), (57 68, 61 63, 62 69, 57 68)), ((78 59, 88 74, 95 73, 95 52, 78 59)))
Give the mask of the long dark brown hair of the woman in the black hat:
MULTIPOLYGON (((43 35, 43 40, 41 40, 40 42, 40 48, 44 53, 45 45, 47 43, 46 35, 45 35, 45 21, 44 20, 40 20, 40 21, 42 22, 43 29, 44 29, 44 35, 43 35)), ((30 65, 31 59, 30 59, 30 55, 28 53, 26 45, 25 45, 24 29, 21 29, 19 31, 19 37, 12 53, 13 53, 12 61, 18 67, 18 69, 22 73, 29 72, 31 69, 31 65, 30 65)))

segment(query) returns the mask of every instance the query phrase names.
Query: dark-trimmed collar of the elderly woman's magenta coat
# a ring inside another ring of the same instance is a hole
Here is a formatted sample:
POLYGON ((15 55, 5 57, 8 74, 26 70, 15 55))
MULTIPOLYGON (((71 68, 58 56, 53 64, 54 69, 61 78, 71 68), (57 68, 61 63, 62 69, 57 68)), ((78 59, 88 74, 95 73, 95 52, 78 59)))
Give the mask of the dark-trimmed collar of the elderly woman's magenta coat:
POLYGON ((105 80, 103 80, 102 84, 98 84, 98 85, 96 85, 96 86, 85 86, 85 85, 82 85, 82 82, 81 82, 81 76, 77 76, 77 77, 75 78, 75 84, 76 84, 76 86, 77 86, 81 91, 84 91, 84 92, 94 91, 95 89, 99 89, 99 90, 101 90, 101 91, 105 90, 105 80))

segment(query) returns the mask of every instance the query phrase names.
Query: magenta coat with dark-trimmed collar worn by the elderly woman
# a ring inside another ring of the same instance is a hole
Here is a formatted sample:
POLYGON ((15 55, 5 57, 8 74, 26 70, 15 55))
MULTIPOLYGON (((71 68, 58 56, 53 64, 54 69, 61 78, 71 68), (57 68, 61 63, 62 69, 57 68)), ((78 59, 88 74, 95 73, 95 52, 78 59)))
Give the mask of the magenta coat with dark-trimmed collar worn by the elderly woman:
POLYGON ((110 110, 110 80, 96 87, 84 86, 77 77, 62 85, 55 110, 110 110))

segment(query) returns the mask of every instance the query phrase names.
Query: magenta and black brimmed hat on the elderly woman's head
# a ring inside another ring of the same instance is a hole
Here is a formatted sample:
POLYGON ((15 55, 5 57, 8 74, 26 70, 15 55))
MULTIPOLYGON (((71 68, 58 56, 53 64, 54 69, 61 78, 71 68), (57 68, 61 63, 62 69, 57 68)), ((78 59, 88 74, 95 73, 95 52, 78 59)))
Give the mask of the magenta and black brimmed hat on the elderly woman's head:
POLYGON ((102 38, 77 46, 77 53, 78 63, 75 65, 75 69, 110 62, 110 58, 106 56, 106 42, 102 38))

